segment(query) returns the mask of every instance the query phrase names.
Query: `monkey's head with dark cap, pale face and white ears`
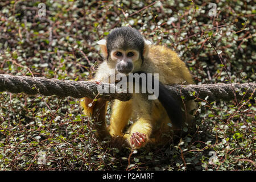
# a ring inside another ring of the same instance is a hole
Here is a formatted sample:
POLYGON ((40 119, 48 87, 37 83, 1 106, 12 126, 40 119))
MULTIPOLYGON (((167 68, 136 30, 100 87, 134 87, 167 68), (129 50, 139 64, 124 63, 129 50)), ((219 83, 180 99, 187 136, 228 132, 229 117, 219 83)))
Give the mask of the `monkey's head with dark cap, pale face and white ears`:
POLYGON ((135 28, 114 28, 106 40, 97 42, 110 68, 119 73, 139 71, 148 52, 149 41, 135 28))

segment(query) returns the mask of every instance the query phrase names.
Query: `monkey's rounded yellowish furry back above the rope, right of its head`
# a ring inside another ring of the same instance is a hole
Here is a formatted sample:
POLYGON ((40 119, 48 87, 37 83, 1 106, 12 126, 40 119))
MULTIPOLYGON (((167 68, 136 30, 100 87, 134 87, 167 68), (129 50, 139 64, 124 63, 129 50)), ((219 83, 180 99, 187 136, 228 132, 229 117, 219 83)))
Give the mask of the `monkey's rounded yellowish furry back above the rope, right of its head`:
POLYGON ((175 51, 164 46, 150 46, 147 57, 143 67, 148 73, 159 73, 159 81, 163 84, 193 84, 188 68, 175 51))

